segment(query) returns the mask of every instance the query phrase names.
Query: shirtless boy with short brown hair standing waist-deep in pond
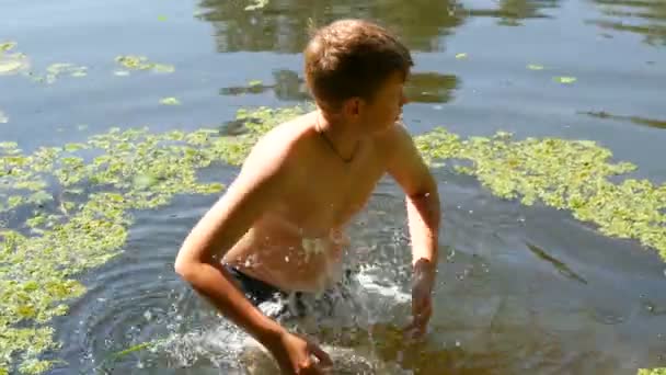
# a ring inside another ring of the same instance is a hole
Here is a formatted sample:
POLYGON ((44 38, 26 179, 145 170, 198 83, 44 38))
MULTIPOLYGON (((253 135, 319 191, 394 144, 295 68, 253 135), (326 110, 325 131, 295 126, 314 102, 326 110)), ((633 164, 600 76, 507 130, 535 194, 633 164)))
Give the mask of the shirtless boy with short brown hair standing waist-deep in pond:
POLYGON ((412 246, 410 332, 424 333, 437 265, 439 196, 399 124, 409 50, 360 20, 317 31, 305 50, 315 111, 276 126, 185 239, 175 271, 261 342, 285 374, 320 374, 330 357, 256 306, 262 288, 317 292, 335 282, 344 226, 388 173, 405 193, 412 246), (254 295, 253 295, 254 294, 254 295))

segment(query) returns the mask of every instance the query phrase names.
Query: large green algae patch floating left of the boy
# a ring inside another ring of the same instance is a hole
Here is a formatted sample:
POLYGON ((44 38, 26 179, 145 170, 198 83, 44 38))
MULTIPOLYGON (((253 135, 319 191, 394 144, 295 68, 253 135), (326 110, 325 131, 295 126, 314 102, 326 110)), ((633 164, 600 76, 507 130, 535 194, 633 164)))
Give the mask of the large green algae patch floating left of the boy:
POLYGON ((30 155, 0 143, 0 374, 57 364, 41 359, 59 349, 49 325, 85 293, 76 276, 122 252, 131 211, 169 204, 176 194, 219 194, 223 185, 198 182, 197 170, 239 166, 260 134, 299 113, 240 111, 248 133, 237 137, 214 128, 112 128, 30 155))

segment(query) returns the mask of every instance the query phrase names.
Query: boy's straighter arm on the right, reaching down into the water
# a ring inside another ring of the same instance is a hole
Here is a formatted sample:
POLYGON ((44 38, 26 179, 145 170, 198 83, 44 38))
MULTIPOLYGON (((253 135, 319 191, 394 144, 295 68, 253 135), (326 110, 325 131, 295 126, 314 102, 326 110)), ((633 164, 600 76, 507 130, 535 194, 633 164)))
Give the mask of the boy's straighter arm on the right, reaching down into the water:
POLYGON ((437 183, 416 149, 412 137, 401 125, 390 132, 388 172, 405 193, 412 242, 413 321, 409 333, 425 333, 432 315, 432 292, 437 274, 440 223, 437 183))

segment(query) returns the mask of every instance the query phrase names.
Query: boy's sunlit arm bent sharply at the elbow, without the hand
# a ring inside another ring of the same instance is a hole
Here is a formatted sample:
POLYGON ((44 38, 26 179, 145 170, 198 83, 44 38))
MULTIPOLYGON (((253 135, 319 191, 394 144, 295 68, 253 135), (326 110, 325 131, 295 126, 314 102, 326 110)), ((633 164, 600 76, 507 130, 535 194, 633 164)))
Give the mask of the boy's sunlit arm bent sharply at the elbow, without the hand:
POLYGON ((286 151, 271 150, 272 157, 265 158, 266 147, 260 144, 266 141, 260 140, 255 149, 263 147, 264 151, 248 157, 233 184, 192 229, 176 257, 175 271, 227 318, 269 344, 284 333, 284 328, 255 308, 220 264, 225 252, 287 189, 282 162, 286 151))

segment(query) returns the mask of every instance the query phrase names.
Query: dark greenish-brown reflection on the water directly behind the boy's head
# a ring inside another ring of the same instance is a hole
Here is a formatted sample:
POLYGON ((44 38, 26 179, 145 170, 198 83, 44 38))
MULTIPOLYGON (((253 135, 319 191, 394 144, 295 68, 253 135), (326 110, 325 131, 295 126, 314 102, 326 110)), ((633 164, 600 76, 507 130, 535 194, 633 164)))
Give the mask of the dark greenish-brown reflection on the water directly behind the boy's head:
POLYGON ((199 7, 199 16, 215 26, 219 52, 300 53, 310 25, 349 16, 381 22, 414 50, 440 50, 440 37, 463 21, 452 2, 430 0, 276 0, 261 12, 246 11, 243 1, 203 0, 199 7))

